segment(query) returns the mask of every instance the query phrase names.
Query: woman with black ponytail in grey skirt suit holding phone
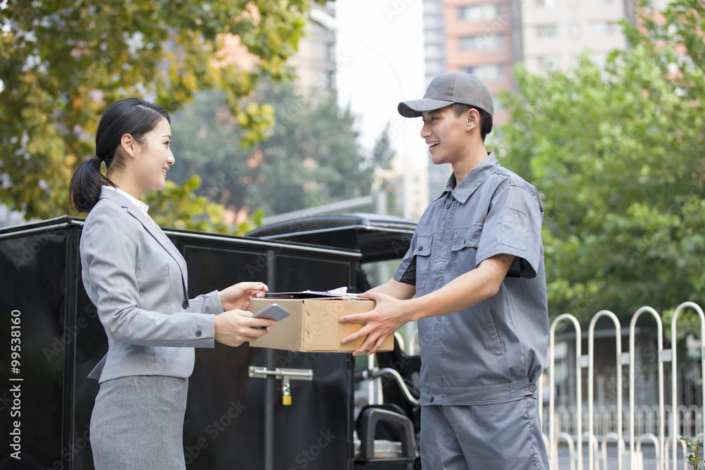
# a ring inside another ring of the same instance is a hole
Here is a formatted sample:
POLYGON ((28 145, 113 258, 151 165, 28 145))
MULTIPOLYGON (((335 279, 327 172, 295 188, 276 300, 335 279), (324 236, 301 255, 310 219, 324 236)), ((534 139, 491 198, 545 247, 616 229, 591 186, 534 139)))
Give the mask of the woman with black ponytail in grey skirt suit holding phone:
POLYGON ((96 469, 184 469, 183 417, 194 347, 238 346, 273 326, 251 319, 263 283, 239 283, 189 299, 186 264, 140 202, 162 190, 174 163, 168 113, 137 98, 106 109, 96 156, 71 178, 75 209, 88 212, 80 254, 108 353, 90 373, 100 383, 90 423, 96 469), (100 172, 105 162, 106 176, 100 172))

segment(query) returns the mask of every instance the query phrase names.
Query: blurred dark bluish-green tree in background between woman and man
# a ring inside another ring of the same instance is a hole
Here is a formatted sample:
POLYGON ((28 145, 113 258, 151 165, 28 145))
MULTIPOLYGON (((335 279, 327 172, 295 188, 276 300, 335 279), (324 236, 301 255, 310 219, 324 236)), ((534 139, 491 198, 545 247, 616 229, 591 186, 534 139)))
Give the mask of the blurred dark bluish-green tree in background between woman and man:
POLYGON ((197 173, 204 180, 199 194, 267 215, 369 194, 374 169, 356 142, 354 117, 333 90, 317 90, 311 99, 290 85, 266 83, 256 98, 274 106, 277 123, 266 141, 243 149, 222 94, 198 94, 174 118, 177 164, 170 176, 197 173))

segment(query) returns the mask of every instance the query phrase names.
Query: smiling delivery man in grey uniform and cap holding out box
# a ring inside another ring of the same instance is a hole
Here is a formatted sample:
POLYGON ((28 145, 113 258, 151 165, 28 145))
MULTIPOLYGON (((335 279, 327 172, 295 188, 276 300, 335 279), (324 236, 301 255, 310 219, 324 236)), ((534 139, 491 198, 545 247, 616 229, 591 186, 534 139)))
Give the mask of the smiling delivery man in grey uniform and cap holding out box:
POLYGON ((367 337, 353 354, 373 354, 418 321, 424 470, 548 469, 536 398, 548 350, 539 192, 486 150, 494 104, 476 76, 439 75, 398 111, 422 118, 432 161, 453 174, 393 278, 362 294, 376 307, 341 318, 365 323, 343 344, 367 337))

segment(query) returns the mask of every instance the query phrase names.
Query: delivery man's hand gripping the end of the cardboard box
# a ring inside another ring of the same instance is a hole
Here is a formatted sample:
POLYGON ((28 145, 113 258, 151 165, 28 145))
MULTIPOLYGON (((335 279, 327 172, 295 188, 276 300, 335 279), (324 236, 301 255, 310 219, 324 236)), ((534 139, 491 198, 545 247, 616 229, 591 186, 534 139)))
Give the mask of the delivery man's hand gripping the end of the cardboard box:
POLYGON ((353 356, 367 352, 367 355, 374 354, 379 350, 387 336, 392 335, 401 328, 404 323, 414 320, 413 311, 410 309, 409 300, 400 300, 382 294, 381 292, 368 291, 360 294, 360 297, 372 299, 376 302, 374 309, 364 314, 353 314, 341 316, 341 323, 364 323, 364 326, 347 338, 343 338, 341 344, 360 340, 367 337, 362 346, 353 352, 353 356))

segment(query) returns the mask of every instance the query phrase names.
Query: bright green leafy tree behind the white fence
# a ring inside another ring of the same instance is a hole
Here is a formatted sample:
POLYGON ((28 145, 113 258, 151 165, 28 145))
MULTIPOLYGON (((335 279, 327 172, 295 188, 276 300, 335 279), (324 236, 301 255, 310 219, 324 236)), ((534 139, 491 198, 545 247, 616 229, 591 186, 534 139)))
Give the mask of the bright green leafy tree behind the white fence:
POLYGON ((552 316, 705 295, 704 8, 678 0, 666 24, 625 24, 632 47, 604 68, 583 57, 568 73, 517 70, 501 153, 543 194, 552 316))

